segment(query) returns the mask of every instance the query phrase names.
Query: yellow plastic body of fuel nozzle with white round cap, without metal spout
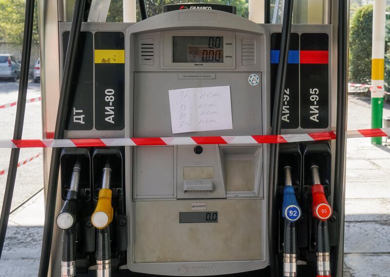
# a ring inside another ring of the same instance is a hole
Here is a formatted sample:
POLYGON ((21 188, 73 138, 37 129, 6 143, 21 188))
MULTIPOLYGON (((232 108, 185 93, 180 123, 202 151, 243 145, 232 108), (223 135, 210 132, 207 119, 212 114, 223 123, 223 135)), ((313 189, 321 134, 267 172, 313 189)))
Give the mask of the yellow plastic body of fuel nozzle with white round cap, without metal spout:
POLYGON ((92 225, 97 229, 104 229, 113 220, 114 209, 111 205, 111 198, 111 189, 101 189, 99 191, 98 204, 91 217, 92 225))

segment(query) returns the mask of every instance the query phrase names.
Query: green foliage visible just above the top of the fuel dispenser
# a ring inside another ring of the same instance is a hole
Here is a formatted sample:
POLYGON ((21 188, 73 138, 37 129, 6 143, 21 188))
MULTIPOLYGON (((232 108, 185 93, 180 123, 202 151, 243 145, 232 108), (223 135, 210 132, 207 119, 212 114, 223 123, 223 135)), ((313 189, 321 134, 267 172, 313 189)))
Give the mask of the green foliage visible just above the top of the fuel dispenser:
MULTIPOLYGON (((162 6, 176 3, 191 3, 191 2, 202 2, 202 3, 216 3, 232 5, 237 8, 237 15, 248 18, 248 0, 145 0, 146 10, 148 16, 155 16, 162 13, 162 6)), ((139 8, 137 1, 137 21, 140 20, 139 8)), ((110 10, 108 11, 107 21, 120 22, 123 21, 123 6, 122 0, 111 0, 110 10)))

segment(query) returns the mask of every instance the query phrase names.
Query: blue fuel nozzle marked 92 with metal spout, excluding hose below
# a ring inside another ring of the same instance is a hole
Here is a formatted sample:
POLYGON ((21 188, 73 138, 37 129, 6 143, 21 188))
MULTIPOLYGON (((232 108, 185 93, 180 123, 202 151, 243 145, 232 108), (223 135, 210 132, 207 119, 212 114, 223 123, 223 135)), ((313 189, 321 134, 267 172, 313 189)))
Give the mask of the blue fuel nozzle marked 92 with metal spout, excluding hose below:
POLYGON ((283 190, 282 216, 290 222, 297 221, 302 214, 295 197, 294 187, 292 186, 291 167, 284 168, 286 186, 283 190))

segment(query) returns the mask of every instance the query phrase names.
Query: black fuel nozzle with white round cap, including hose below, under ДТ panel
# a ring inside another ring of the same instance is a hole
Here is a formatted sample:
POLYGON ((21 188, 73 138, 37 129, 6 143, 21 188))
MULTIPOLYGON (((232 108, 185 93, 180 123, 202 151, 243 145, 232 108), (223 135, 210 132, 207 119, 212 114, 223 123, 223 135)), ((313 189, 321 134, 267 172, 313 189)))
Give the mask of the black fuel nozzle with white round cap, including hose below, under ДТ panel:
POLYGON ((78 182, 81 167, 73 167, 70 188, 64 205, 57 216, 57 226, 62 229, 61 277, 76 276, 76 239, 75 224, 78 200, 78 182))

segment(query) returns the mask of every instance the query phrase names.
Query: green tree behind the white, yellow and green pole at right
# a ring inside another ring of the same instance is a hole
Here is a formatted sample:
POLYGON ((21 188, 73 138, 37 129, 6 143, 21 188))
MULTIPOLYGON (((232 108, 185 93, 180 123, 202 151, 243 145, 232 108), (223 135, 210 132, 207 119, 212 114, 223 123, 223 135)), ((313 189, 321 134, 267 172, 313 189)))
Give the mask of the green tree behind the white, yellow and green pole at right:
MULTIPOLYGON (((358 8, 350 26, 350 81, 371 82, 372 5, 358 8)), ((385 86, 390 83, 390 22, 386 24, 385 86)))

